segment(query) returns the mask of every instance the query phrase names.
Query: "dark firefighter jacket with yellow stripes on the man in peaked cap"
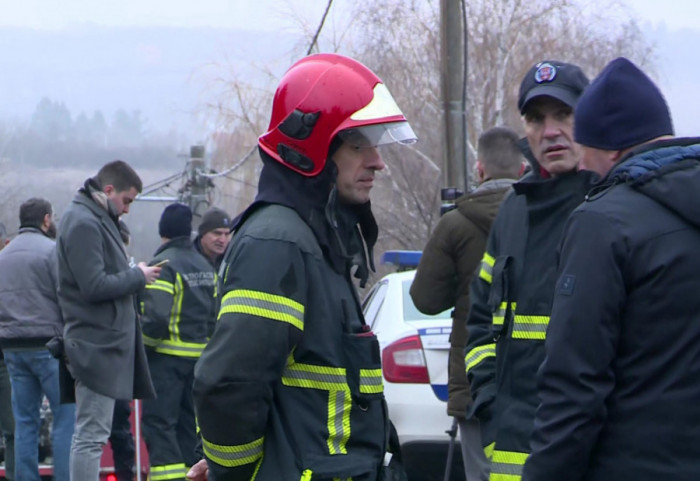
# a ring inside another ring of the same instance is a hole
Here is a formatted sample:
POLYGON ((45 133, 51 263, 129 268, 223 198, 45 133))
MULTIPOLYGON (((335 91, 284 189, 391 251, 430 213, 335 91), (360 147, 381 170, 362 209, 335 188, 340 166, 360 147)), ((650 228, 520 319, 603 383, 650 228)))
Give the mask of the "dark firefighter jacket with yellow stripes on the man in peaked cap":
POLYGON ((549 179, 538 172, 515 183, 503 201, 471 285, 469 414, 481 422, 487 454, 493 448, 493 481, 522 474, 538 404, 535 376, 544 358, 557 246, 567 217, 594 179, 590 172, 549 179))

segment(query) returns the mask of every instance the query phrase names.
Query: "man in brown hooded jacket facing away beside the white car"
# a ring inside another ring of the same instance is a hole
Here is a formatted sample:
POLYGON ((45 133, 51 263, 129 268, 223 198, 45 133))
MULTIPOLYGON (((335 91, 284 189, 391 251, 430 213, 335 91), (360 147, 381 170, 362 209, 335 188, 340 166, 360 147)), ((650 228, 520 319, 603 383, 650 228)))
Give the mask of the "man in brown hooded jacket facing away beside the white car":
POLYGON ((454 307, 450 334, 447 414, 459 423, 460 445, 467 481, 485 477, 484 458, 476 419, 467 419, 471 404, 464 370, 467 344, 469 284, 484 255, 486 238, 498 207, 518 178, 524 158, 517 134, 494 127, 479 137, 476 163, 479 186, 461 196, 455 209, 445 213, 423 249, 411 284, 411 299, 426 314, 454 307))

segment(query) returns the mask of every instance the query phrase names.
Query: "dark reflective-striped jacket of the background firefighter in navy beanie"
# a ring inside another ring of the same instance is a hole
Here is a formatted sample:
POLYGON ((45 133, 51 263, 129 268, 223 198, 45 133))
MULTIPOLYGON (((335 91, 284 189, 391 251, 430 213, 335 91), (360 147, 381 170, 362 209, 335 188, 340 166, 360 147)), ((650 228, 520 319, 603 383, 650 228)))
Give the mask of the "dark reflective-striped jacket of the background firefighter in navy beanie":
POLYGON ((141 293, 143 342, 162 354, 197 358, 214 330, 216 273, 188 237, 161 245, 151 264, 164 259, 160 277, 141 293))

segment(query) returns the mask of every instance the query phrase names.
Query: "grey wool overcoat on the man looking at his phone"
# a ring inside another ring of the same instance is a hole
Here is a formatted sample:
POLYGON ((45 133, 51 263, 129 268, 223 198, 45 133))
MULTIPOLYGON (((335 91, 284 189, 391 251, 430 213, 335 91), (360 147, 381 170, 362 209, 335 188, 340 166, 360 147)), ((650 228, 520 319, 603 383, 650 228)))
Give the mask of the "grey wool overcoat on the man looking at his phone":
POLYGON ((117 224, 81 190, 61 219, 56 247, 71 374, 114 399, 154 398, 134 302, 146 279, 129 267, 117 224))

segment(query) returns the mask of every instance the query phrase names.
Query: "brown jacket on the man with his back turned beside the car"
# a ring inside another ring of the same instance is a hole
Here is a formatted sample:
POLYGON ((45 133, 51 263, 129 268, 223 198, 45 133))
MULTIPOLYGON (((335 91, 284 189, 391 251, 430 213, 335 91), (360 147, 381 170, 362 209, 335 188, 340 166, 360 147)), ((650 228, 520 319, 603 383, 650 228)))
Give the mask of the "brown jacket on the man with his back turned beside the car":
POLYGON ((454 307, 450 334, 447 414, 464 418, 471 394, 464 372, 467 344, 469 284, 484 255, 486 239, 498 207, 513 179, 494 179, 457 199, 456 208, 442 216, 423 249, 411 298, 426 314, 454 307))

